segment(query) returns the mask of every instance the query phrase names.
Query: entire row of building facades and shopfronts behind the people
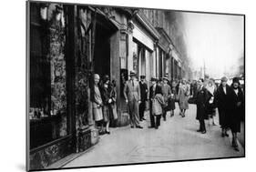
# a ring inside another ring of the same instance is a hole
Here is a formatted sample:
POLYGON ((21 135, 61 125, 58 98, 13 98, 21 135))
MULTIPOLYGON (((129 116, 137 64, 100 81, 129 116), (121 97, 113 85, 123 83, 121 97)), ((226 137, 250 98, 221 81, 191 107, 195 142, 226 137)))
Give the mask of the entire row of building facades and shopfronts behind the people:
POLYGON ((128 125, 122 90, 129 71, 147 81, 186 75, 167 11, 38 2, 27 9, 29 169, 97 144, 94 74, 117 83, 118 126, 128 125))

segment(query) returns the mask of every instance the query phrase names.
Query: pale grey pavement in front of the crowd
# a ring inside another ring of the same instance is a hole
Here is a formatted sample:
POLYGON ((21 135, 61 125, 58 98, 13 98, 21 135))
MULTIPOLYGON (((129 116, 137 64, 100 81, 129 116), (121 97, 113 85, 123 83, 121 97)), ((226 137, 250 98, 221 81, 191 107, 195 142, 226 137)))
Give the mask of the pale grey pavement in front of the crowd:
MULTIPOLYGON (((147 120, 141 122, 143 129, 130 126, 111 128, 110 135, 101 136, 97 145, 64 167, 244 157, 241 145, 237 152, 230 146, 231 137, 221 137, 219 125, 209 125, 206 120, 207 133, 196 132, 199 122, 194 105, 189 105, 186 117, 179 116, 178 108, 175 116, 170 117, 168 113, 167 121, 161 119, 159 129, 148 128, 148 112, 145 116, 147 120)), ((218 116, 215 121, 218 124, 218 116)))

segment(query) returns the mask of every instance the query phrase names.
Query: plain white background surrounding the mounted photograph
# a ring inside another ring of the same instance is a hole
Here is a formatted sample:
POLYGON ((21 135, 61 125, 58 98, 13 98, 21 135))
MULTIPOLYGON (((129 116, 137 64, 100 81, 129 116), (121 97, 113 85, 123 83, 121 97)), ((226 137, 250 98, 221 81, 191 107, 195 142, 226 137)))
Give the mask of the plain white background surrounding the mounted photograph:
MULTIPOLYGON (((96 5, 125 5, 246 15, 246 158, 192 161, 69 171, 251 171, 255 168, 255 5, 247 0, 61 0, 96 5), (252 87, 254 86, 254 87, 252 87), (250 170, 251 169, 251 170, 250 170)), ((1 17, 1 171, 25 171, 26 161, 26 2, 3 1, 1 17)), ((58 170, 56 170, 58 171, 58 170)))

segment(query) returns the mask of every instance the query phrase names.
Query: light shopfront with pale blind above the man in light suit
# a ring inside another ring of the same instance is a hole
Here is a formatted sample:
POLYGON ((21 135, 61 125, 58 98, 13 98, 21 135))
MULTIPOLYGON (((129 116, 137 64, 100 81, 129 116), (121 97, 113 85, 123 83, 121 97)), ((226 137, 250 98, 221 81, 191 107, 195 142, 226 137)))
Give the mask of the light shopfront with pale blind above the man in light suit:
POLYGON ((158 75, 158 54, 157 42, 159 33, 148 22, 148 19, 138 13, 133 19, 134 28, 132 30, 132 62, 129 70, 134 70, 138 77, 146 76, 149 81, 151 77, 158 75))

